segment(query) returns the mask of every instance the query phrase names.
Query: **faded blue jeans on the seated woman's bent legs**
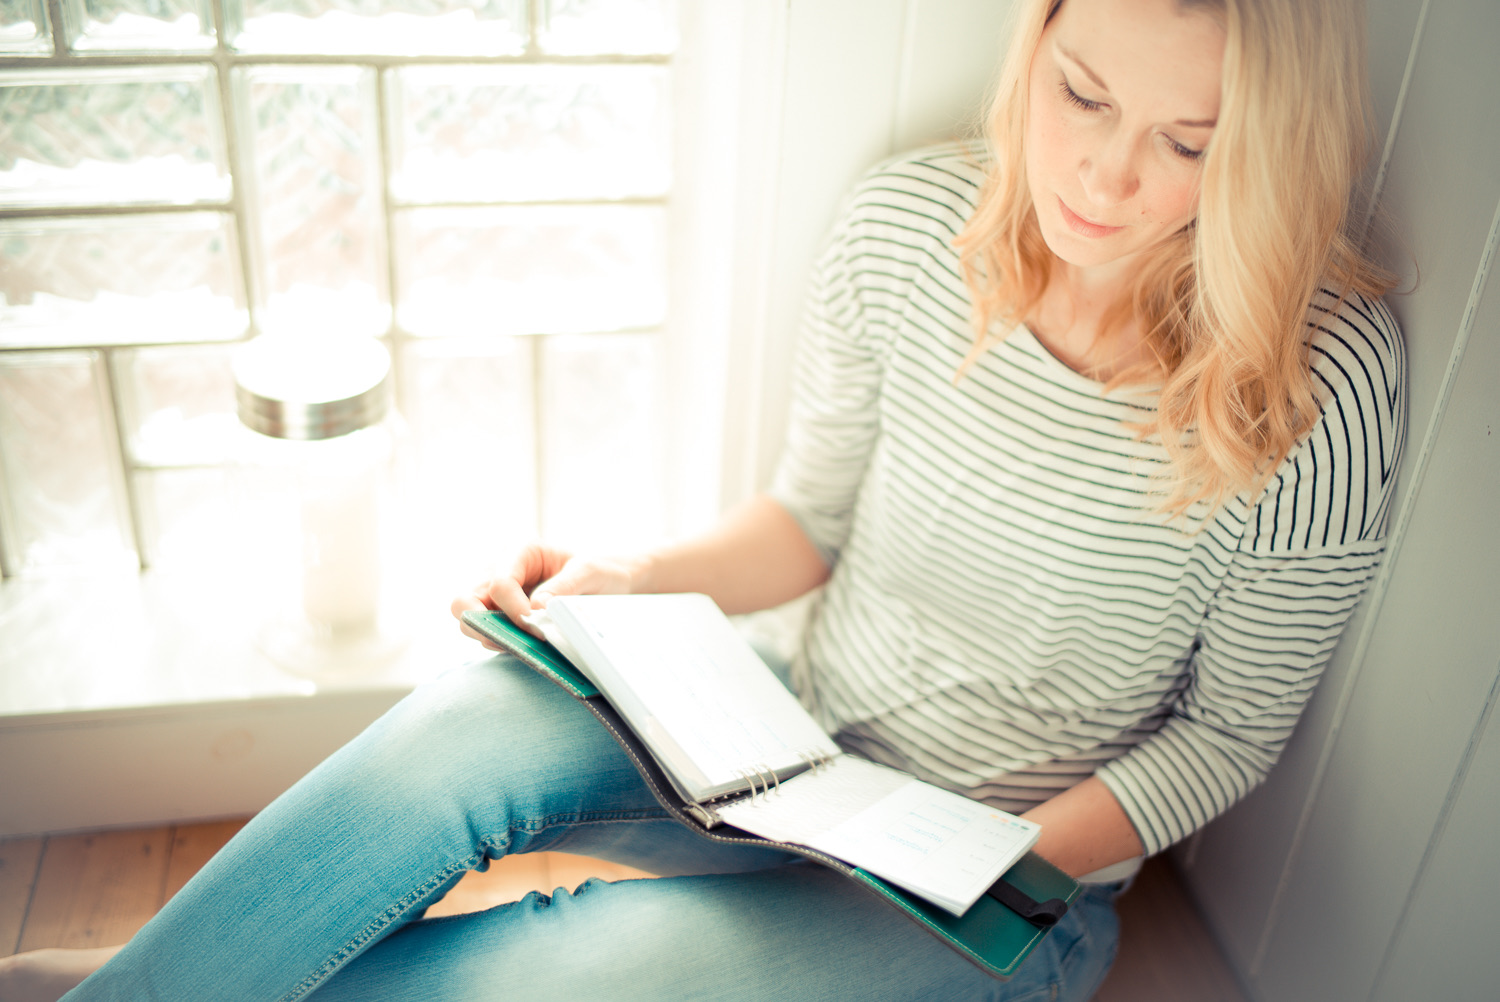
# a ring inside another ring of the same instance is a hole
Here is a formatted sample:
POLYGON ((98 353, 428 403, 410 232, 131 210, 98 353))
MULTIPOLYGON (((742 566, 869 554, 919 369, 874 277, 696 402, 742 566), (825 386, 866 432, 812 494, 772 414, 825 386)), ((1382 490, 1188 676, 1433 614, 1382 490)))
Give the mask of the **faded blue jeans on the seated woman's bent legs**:
POLYGON ((1083 1000, 1116 940, 1095 888, 994 980, 831 870, 694 836, 584 706, 495 657, 309 772, 66 999, 1083 1000), (466 870, 554 849, 668 879, 422 918, 466 870))

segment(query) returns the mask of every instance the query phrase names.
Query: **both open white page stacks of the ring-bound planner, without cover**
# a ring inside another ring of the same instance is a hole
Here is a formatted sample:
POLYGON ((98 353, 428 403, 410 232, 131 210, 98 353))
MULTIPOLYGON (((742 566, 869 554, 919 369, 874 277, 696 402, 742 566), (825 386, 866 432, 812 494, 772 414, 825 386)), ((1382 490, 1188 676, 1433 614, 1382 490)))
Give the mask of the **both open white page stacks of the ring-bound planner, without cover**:
POLYGON ((962 915, 1041 828, 840 752, 708 596, 566 596, 536 626, 684 800, 962 915))

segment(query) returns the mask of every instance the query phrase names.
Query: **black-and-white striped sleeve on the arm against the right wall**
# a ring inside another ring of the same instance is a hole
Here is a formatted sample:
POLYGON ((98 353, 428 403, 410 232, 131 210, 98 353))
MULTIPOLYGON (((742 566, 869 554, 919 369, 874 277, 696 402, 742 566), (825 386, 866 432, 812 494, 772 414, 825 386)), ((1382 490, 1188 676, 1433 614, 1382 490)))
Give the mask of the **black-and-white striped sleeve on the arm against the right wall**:
POLYGON ((1330 306, 1311 321, 1323 417, 1248 512, 1164 724, 1100 770, 1148 852, 1266 777, 1376 574, 1404 436, 1401 342, 1378 304, 1330 306))

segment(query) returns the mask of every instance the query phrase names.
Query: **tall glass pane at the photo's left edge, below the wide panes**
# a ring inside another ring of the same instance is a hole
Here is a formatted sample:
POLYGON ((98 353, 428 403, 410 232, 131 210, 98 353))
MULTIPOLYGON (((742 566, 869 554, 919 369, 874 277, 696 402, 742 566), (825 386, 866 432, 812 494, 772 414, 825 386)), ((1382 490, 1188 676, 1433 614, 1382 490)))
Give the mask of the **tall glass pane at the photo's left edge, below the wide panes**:
POLYGON ((134 560, 96 352, 0 356, 6 546, 22 572, 134 560))

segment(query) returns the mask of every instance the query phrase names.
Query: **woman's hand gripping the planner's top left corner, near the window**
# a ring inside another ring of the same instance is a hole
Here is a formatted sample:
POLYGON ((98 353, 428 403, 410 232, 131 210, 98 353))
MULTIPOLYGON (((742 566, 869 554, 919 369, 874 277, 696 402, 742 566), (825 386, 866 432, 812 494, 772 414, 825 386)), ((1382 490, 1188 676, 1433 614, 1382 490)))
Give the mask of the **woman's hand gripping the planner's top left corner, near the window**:
POLYGON ((644 558, 574 556, 544 543, 531 543, 516 554, 508 572, 498 573, 476 585, 472 592, 454 598, 453 615, 465 636, 498 651, 498 646, 464 622, 465 612, 502 612, 512 622, 540 638, 525 616, 544 609, 552 596, 624 596, 636 588, 644 568, 644 558))

